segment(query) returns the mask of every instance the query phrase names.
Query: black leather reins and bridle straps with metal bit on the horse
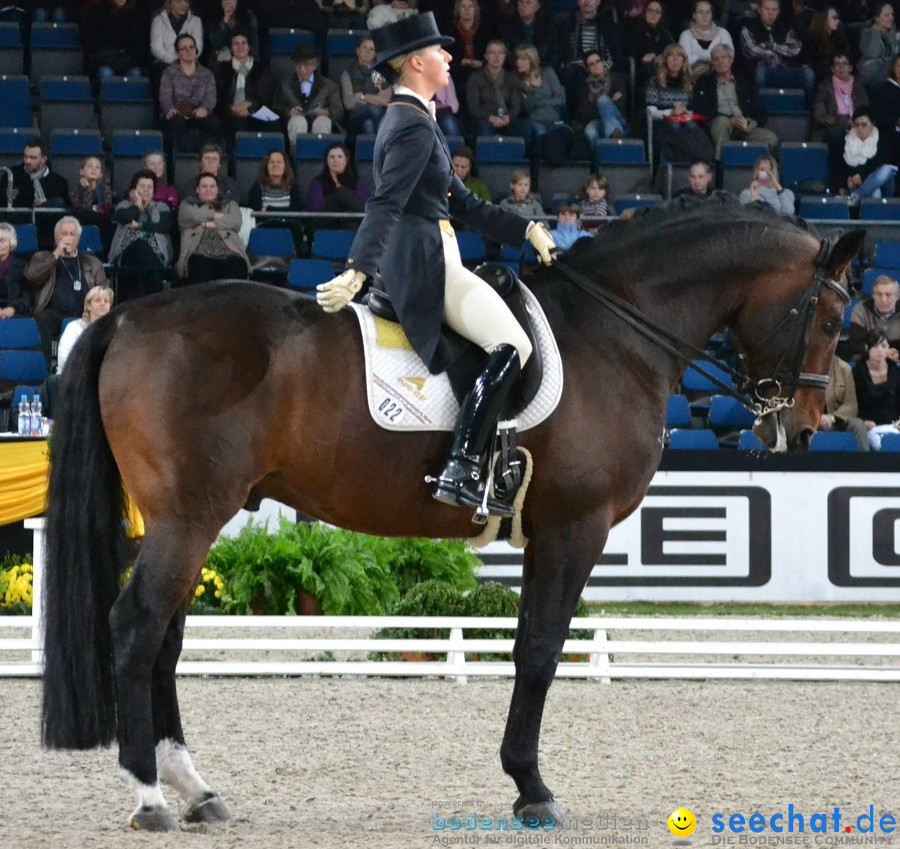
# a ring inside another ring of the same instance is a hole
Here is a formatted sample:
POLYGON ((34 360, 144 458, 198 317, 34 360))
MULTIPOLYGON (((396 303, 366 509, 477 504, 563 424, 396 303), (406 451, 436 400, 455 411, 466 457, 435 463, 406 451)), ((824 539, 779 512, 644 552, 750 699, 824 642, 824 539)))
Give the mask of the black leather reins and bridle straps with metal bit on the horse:
POLYGON ((784 329, 786 325, 800 319, 800 324, 797 326, 797 331, 791 344, 785 348, 772 376, 760 380, 753 380, 749 375, 737 371, 724 363, 719 363, 703 349, 685 341, 671 330, 662 327, 649 318, 634 304, 612 292, 599 289, 597 284, 589 277, 559 262, 554 263, 554 267, 576 288, 598 301, 613 315, 640 333, 656 347, 671 354, 682 363, 692 366, 695 371, 702 374, 723 392, 735 398, 755 416, 762 418, 793 406, 794 393, 800 386, 811 386, 821 390, 826 389, 828 386, 830 378, 827 374, 811 374, 801 371, 801 369, 803 367, 803 354, 809 344, 809 331, 812 327, 813 316, 816 305, 819 302, 819 293, 822 287, 824 286, 837 294, 845 304, 850 303, 850 295, 839 283, 828 277, 828 259, 831 256, 833 247, 833 239, 824 239, 822 241, 822 246, 816 257, 816 270, 812 282, 800 296, 797 304, 788 310, 778 325, 754 346, 753 350, 755 351, 763 342, 784 329), (793 363, 790 373, 784 376, 781 371, 789 354, 793 354, 793 363), (725 371, 735 383, 740 385, 741 391, 734 389, 731 384, 726 384, 716 375, 707 371, 696 362, 697 360, 701 360, 703 363, 715 364, 717 368, 725 371), (786 395, 782 394, 785 388, 788 390, 786 395), (772 390, 774 390, 774 394, 772 394, 772 390))

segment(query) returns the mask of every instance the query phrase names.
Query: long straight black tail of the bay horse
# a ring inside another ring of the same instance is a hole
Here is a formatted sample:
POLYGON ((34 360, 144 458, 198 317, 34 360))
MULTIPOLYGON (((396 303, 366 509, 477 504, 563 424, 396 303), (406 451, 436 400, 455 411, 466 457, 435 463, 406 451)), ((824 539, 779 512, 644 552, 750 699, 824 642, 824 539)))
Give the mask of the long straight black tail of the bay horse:
POLYGON ((126 560, 124 493, 100 419, 100 366, 117 316, 91 324, 54 410, 44 577, 44 745, 89 749, 116 733, 109 612, 126 560))

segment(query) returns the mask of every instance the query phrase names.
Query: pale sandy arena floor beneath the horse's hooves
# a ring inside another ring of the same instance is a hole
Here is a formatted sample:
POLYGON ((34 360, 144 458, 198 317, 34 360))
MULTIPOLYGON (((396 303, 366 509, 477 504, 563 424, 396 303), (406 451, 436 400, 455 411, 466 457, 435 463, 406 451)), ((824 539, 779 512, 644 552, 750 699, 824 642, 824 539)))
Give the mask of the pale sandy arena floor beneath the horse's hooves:
MULTIPOLYGON (((150 835, 125 827, 133 800, 115 751, 42 751, 39 682, 0 679, 0 847, 496 845, 485 831, 435 831, 433 817, 511 815, 514 788, 497 754, 511 688, 509 680, 183 678, 188 744, 236 824, 150 835), (440 842, 463 836, 468 844, 440 842)), ((714 842, 716 812, 768 818, 791 803, 807 816, 840 806, 842 825, 854 824, 847 836, 859 839, 855 819, 870 804, 876 820, 885 812, 900 820, 898 700, 894 684, 558 681, 544 722, 544 778, 567 815, 592 827, 531 835, 542 842, 525 845, 646 838, 637 845, 669 847, 665 820, 679 805, 698 815, 696 847, 729 845, 714 842)), ((499 835, 499 845, 522 837, 499 835)), ((841 845, 834 837, 845 835, 807 831, 800 845, 841 845)))

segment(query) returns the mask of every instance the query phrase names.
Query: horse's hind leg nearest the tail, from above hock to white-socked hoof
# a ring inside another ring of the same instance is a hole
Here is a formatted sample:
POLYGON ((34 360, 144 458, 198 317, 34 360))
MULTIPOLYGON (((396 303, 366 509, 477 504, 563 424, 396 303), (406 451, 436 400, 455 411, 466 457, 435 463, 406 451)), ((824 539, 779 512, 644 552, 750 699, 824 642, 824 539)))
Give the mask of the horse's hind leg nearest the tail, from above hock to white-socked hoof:
POLYGON ((129 819, 134 828, 177 828, 159 785, 157 744, 161 740, 173 741, 172 746, 164 746, 167 774, 180 776, 190 790, 200 786, 184 777, 189 774, 185 763, 190 759, 178 717, 174 670, 181 651, 184 610, 211 542, 196 527, 182 533, 171 527, 148 532, 131 579, 110 613, 119 764, 137 793, 138 805, 129 819))

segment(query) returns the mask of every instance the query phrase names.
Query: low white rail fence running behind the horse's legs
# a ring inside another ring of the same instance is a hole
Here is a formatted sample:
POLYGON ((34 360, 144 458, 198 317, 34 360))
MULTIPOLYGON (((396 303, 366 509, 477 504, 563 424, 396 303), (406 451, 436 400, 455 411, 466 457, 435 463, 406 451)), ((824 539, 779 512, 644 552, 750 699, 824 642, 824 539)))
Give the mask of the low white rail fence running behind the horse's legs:
MULTIPOLYGON (((0 637, 0 676, 40 674, 36 625, 30 616, 0 617, 0 632, 31 632, 27 637, 0 637)), ((511 652, 511 639, 465 635, 474 629, 513 629, 515 625, 511 618, 189 616, 186 659, 178 672, 438 676, 456 681, 469 676, 511 676, 510 660, 478 659, 478 655, 511 652), (371 636, 381 628, 444 629, 449 636, 371 636), (216 636, 199 636, 209 629, 216 630, 216 636), (259 635, 261 630, 269 633, 259 635), (270 635, 277 631, 290 636, 270 635), (311 631, 315 633, 304 636, 311 631), (221 636, 223 632, 227 636, 221 636), (370 659, 373 652, 388 654, 390 659, 370 659), (428 659, 393 659, 406 653, 428 659), (241 659, 247 655, 252 658, 241 659)), ((900 681, 900 666, 893 660, 900 657, 900 623, 894 621, 597 617, 577 619, 572 626, 593 636, 566 642, 564 652, 575 657, 560 663, 558 676, 563 678, 604 683, 625 678, 900 681)))

